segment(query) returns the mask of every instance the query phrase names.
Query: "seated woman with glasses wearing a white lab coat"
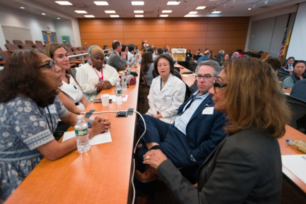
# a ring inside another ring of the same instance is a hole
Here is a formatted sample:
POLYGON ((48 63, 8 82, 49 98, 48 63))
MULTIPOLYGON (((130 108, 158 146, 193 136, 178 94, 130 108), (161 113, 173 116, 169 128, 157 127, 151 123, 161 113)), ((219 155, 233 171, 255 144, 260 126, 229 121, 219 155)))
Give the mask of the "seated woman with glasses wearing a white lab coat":
POLYGON ((186 85, 175 77, 174 62, 168 54, 159 55, 154 62, 156 77, 148 95, 149 110, 146 114, 173 123, 180 105, 184 102, 186 85))

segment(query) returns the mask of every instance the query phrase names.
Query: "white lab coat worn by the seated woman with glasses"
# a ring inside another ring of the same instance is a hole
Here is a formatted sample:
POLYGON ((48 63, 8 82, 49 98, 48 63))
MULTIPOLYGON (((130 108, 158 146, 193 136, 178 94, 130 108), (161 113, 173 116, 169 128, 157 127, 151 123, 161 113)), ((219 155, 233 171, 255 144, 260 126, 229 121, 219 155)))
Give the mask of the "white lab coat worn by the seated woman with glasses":
POLYGON ((179 78, 170 74, 168 81, 161 91, 161 76, 156 77, 151 84, 149 95, 148 114, 162 114, 162 120, 173 123, 179 107, 183 104, 186 93, 186 85, 179 78))

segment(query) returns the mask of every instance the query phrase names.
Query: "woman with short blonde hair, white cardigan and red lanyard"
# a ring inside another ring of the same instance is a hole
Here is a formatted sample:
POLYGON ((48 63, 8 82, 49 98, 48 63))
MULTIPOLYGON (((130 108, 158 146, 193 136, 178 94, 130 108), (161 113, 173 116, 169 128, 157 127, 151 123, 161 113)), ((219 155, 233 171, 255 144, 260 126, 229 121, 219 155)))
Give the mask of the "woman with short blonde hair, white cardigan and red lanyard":
POLYGON ((103 89, 110 89, 120 82, 116 69, 104 64, 104 53, 99 47, 92 50, 91 62, 78 68, 77 80, 89 101, 93 101, 103 89))

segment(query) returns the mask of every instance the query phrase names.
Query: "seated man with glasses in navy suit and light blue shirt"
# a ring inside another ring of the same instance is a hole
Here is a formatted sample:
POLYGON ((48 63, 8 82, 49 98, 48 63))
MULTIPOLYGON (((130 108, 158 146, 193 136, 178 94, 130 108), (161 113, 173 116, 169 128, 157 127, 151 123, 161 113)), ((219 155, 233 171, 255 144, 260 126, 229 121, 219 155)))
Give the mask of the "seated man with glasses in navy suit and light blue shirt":
MULTIPOLYGON (((141 143, 144 148, 138 154, 144 155, 148 150, 160 149, 176 167, 193 163, 200 166, 225 138, 224 114, 214 110, 212 96, 208 94, 221 67, 213 60, 206 60, 200 62, 197 69, 198 89, 180 106, 173 124, 143 115, 146 131, 141 143)), ((142 134, 144 123, 141 118, 138 119, 138 127, 142 134)), ((156 169, 151 167, 144 173, 136 170, 135 175, 142 181, 158 177, 156 169)))

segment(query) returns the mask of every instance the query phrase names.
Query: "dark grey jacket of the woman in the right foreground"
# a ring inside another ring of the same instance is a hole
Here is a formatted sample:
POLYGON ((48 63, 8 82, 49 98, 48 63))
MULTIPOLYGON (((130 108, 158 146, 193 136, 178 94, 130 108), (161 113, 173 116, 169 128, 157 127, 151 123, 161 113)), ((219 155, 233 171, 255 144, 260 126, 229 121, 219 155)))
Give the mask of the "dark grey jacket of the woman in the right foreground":
POLYGON ((280 203, 282 185, 278 141, 262 130, 246 129, 227 137, 209 155, 197 176, 198 188, 170 160, 158 175, 180 203, 280 203))

